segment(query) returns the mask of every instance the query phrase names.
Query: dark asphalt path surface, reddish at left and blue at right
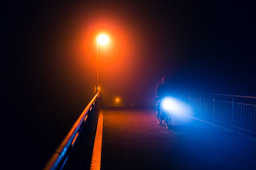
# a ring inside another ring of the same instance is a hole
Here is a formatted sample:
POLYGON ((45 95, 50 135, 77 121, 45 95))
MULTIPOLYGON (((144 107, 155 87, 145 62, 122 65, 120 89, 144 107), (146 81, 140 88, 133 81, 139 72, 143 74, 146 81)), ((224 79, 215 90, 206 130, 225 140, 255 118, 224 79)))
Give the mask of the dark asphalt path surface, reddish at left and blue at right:
POLYGON ((171 130, 154 110, 105 108, 102 170, 256 169, 256 141, 186 116, 172 116, 171 130))

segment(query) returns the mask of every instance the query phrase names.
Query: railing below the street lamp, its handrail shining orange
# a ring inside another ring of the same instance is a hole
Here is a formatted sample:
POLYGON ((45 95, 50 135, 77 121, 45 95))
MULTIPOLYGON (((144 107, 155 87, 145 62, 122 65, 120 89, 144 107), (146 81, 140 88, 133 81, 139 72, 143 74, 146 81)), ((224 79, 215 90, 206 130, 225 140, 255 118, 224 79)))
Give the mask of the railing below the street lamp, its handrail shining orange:
POLYGON ((97 93, 47 162, 45 170, 88 169, 102 95, 97 93))

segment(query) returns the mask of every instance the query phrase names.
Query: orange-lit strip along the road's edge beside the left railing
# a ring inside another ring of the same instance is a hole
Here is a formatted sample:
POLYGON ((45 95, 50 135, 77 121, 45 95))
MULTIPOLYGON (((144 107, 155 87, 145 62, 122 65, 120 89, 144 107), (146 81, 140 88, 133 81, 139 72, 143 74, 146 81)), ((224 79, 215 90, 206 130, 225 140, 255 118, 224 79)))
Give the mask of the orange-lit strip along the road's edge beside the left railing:
POLYGON ((93 146, 93 156, 90 170, 100 170, 101 148, 102 148, 102 131, 103 131, 103 110, 99 113, 96 136, 93 146))

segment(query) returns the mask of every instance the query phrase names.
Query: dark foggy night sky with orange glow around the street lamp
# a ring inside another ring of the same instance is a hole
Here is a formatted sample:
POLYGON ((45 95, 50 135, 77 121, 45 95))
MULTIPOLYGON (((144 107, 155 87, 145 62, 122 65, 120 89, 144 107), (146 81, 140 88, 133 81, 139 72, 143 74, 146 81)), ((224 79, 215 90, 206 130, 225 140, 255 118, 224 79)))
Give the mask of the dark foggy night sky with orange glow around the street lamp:
POLYGON ((112 36, 112 48, 100 52, 107 56, 99 62, 105 105, 115 97, 129 106, 154 95, 164 76, 176 91, 256 96, 254 7, 232 1, 3 4, 2 129, 9 129, 6 157, 16 162, 10 165, 43 167, 94 96, 98 31, 112 36))

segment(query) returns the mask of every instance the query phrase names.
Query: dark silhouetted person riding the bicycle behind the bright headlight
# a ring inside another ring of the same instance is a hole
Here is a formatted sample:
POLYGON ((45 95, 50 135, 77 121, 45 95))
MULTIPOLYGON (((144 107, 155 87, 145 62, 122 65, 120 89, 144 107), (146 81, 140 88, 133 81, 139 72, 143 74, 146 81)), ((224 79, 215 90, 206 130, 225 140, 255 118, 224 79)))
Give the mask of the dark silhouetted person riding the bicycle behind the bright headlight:
POLYGON ((163 97, 168 96, 170 94, 170 90, 168 87, 168 79, 163 77, 162 82, 157 84, 156 89, 156 101, 157 101, 157 114, 160 113, 160 101, 163 97))

